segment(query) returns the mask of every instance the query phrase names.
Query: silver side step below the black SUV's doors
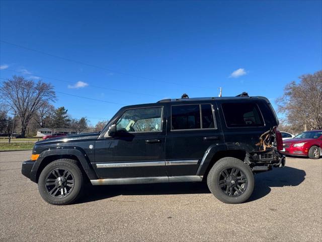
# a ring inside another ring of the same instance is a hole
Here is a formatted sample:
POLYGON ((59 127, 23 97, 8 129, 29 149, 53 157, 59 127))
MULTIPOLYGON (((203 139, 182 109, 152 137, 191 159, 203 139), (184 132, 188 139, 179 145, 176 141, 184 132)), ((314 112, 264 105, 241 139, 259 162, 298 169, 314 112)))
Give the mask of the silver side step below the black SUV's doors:
POLYGON ((151 176, 129 178, 105 178, 91 180, 92 185, 126 185, 126 184, 150 184, 150 183, 183 183, 187 181, 202 181, 202 175, 180 176, 151 176))

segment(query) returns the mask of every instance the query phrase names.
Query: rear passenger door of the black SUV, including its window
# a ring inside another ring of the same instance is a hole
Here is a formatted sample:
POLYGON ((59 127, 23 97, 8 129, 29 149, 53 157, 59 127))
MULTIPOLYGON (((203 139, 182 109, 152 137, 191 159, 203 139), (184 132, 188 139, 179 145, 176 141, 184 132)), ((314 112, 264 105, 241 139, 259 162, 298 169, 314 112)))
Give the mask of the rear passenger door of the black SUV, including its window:
POLYGON ((169 176, 195 175, 207 148, 223 142, 214 102, 169 105, 166 168, 169 176))

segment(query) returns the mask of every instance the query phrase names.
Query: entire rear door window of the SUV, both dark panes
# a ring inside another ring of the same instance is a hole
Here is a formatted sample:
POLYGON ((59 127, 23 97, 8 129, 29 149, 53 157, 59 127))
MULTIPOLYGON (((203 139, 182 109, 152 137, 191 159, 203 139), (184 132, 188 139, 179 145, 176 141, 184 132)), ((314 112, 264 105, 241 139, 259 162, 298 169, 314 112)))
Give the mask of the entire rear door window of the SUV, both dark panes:
POLYGON ((211 104, 175 105, 171 107, 171 129, 216 128, 211 104))

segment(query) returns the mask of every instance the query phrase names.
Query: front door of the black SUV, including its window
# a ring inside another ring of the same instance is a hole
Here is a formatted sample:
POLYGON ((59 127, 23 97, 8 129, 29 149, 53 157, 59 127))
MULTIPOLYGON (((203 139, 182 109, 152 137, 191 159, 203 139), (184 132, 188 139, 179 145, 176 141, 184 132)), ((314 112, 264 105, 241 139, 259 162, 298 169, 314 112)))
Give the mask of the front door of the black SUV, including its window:
POLYGON ((114 137, 97 140, 100 178, 166 176, 164 106, 126 109, 114 137))

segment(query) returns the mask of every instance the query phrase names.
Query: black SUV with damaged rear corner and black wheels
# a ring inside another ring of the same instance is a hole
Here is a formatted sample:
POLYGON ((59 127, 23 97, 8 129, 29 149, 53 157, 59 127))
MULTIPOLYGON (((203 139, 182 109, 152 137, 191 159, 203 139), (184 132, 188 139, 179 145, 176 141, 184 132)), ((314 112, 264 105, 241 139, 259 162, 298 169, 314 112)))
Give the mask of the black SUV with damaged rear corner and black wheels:
POLYGON ((165 99, 121 108, 100 133, 35 143, 22 173, 48 203, 74 202, 84 185, 206 181, 242 203, 253 173, 283 167, 278 119, 265 97, 165 99))

